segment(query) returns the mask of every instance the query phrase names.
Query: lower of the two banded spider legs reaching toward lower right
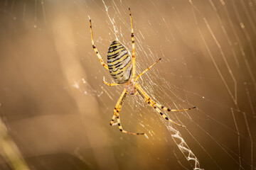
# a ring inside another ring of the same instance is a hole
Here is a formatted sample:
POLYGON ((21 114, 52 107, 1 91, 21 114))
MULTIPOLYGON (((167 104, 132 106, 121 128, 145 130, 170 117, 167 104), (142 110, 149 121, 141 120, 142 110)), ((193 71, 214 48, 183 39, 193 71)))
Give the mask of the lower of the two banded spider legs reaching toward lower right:
POLYGON ((162 113, 160 111, 159 108, 156 107, 156 103, 154 101, 151 100, 151 98, 149 98, 149 96, 147 96, 147 94, 143 91, 143 89, 138 85, 135 84, 135 87, 137 88, 138 93, 142 96, 142 98, 144 99, 144 101, 146 101, 146 103, 149 104, 149 106, 151 106, 152 108, 154 108, 164 119, 168 120, 171 123, 174 123, 175 125, 179 125, 183 128, 185 128, 184 125, 175 123, 174 121, 172 121, 171 119, 169 119, 164 113, 162 113))

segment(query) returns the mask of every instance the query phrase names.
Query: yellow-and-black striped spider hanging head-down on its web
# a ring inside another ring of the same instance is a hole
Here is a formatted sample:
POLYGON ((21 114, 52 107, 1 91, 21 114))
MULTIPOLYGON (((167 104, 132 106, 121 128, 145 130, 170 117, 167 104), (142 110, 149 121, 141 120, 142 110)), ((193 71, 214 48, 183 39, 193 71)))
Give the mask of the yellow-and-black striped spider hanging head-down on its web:
MULTIPOLYGON (((175 123, 171 119, 169 119, 164 113, 160 111, 159 108, 164 109, 165 111, 188 111, 191 110, 192 108, 186 108, 186 109, 170 109, 162 106, 159 103, 154 102, 147 94, 146 92, 142 89, 139 84, 137 84, 137 80, 139 77, 142 76, 145 72, 147 72, 151 67, 154 66, 157 62, 161 60, 157 60, 152 64, 150 67, 146 68, 141 74, 135 76, 135 44, 134 44, 134 29, 132 27, 132 14, 131 10, 129 8, 129 18, 131 21, 131 28, 132 28, 132 55, 130 52, 122 45, 120 42, 117 40, 114 40, 107 52, 107 64, 103 62, 102 57, 100 56, 100 53, 97 51, 97 48, 95 46, 93 36, 92 36, 92 21, 90 20, 90 33, 92 37, 92 48, 95 51, 97 57, 100 60, 100 63, 102 64, 105 69, 107 69, 111 76, 114 78, 116 83, 107 83, 105 79, 103 78, 103 83, 106 84, 107 86, 117 86, 117 85, 124 85, 124 91, 122 91, 121 96, 119 97, 119 100, 117 101, 117 104, 114 107, 114 115, 112 116, 112 119, 110 121, 110 125, 113 125, 115 118, 117 118, 117 125, 118 128, 121 132, 131 134, 131 135, 145 135, 146 138, 147 135, 146 133, 142 132, 128 132, 127 130, 124 130, 122 128, 120 118, 119 118, 119 112, 121 111, 122 104, 124 103, 124 99, 126 98, 127 94, 131 95, 137 95, 137 93, 142 96, 144 101, 149 104, 152 108, 154 108, 164 119, 168 120, 171 123, 174 123, 175 125, 179 125, 181 127, 185 127, 184 125, 180 125, 178 123, 175 123)), ((193 107, 196 108, 196 107, 193 107)))

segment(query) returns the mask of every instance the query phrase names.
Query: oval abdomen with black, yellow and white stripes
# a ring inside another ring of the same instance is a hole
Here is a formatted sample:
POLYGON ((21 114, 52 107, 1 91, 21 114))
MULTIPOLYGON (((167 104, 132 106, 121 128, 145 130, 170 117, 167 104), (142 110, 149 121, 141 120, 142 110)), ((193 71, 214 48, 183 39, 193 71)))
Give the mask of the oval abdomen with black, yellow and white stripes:
POLYGON ((120 42, 113 41, 107 51, 107 67, 118 84, 124 84, 132 77, 131 54, 120 42))

